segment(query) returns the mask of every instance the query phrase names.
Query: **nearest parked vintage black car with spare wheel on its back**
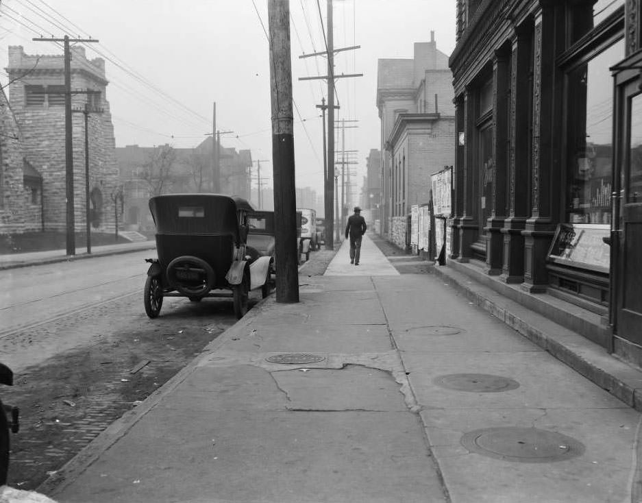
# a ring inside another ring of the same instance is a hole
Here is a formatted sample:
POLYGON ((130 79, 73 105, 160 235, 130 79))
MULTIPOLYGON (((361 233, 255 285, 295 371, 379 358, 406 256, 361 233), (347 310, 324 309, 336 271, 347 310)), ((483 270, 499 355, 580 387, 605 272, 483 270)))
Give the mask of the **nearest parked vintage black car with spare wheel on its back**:
POLYGON ((273 257, 247 249, 247 216, 254 208, 240 197, 171 194, 149 199, 156 224, 158 258, 145 282, 145 312, 160 313, 164 297, 232 297, 237 318, 247 312, 249 291, 269 294, 273 257), (249 253, 248 253, 249 252, 249 253))

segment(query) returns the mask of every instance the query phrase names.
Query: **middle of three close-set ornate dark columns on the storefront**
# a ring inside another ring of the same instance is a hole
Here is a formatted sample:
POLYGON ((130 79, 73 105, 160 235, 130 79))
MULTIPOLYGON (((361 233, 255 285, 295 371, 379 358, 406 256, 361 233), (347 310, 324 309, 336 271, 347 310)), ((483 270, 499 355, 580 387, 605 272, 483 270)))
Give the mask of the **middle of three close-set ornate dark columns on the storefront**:
MULTIPOLYGON (((528 22, 527 22, 528 23, 528 22)), ((510 112, 508 123, 508 217, 504 221, 504 258, 502 276, 506 283, 521 283, 524 278, 524 237, 529 217, 528 175, 530 173, 529 129, 532 100, 531 45, 532 25, 517 27, 511 42, 510 112)))

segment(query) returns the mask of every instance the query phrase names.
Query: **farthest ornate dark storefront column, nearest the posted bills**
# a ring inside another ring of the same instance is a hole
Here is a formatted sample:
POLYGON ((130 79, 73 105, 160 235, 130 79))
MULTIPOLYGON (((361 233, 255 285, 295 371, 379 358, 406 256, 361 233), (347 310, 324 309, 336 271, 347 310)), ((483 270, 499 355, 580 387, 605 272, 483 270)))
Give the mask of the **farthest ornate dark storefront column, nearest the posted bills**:
MULTIPOLYGON (((472 252, 471 244, 478 232, 476 217, 476 199, 473 199, 473 180, 475 173, 473 169, 473 151, 471 138, 473 137, 473 128, 471 117, 475 116, 473 112, 474 99, 471 97, 471 90, 467 87, 464 93, 464 147, 462 152, 462 217, 459 220, 459 257, 458 262, 468 262, 472 252)), ((459 182, 458 182, 459 183, 459 182)))

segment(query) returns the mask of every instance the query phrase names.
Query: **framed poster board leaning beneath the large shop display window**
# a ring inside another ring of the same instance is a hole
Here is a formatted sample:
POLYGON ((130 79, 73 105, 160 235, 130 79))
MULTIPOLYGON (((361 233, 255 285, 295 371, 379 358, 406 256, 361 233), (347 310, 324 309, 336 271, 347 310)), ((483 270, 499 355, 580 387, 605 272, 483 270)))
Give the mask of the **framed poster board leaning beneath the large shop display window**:
POLYGON ((560 223, 548 251, 547 260, 562 265, 608 273, 610 247, 608 225, 560 223))

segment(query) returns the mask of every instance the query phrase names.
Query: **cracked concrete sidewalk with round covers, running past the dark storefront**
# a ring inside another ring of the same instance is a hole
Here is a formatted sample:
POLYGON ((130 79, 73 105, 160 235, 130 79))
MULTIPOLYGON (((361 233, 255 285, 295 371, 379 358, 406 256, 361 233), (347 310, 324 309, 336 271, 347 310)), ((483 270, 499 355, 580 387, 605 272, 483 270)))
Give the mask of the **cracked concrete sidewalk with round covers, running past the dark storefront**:
MULTIPOLYGON (((438 276, 389 263, 375 275, 349 265, 346 246, 326 275, 304 278, 301 302, 255 306, 39 491, 59 502, 638 501, 636 410, 438 276)), ((386 262, 366 236, 363 265, 386 262)))

